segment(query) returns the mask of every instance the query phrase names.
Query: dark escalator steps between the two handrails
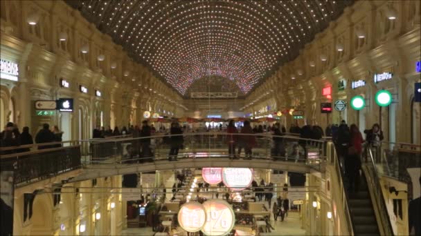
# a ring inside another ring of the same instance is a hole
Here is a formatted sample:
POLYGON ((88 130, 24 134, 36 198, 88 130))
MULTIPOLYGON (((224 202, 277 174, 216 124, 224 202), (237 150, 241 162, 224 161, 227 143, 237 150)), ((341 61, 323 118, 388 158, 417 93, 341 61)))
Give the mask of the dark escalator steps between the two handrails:
POLYGON ((349 195, 348 204, 356 236, 380 235, 365 175, 361 176, 359 191, 349 195))

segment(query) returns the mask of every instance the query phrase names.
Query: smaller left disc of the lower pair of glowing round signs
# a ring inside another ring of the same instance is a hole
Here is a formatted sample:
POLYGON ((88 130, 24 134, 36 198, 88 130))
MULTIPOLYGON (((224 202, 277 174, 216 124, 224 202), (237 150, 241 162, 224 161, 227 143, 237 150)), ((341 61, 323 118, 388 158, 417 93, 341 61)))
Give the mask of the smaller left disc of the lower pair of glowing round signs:
POLYGON ((178 213, 178 220, 183 230, 197 232, 203 228, 206 222, 205 208, 198 202, 183 204, 178 213))

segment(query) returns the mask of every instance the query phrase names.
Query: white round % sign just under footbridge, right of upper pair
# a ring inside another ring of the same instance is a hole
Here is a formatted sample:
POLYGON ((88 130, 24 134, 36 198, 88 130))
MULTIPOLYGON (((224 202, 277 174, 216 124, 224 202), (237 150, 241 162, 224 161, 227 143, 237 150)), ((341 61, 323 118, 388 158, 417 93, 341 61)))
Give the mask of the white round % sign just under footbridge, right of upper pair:
POLYGON ((231 190, 240 191, 248 188, 253 181, 251 168, 222 168, 222 181, 231 190))

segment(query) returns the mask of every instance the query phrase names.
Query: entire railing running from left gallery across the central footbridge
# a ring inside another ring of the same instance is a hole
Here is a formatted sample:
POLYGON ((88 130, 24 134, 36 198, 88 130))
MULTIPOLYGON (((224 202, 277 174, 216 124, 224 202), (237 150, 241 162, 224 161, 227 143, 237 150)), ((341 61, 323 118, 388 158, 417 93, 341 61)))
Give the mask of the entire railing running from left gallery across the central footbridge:
POLYGON ((95 164, 141 164, 194 158, 265 159, 306 164, 323 170, 325 140, 270 133, 156 133, 150 137, 120 137, 63 141, 0 148, 1 170, 14 170, 15 184, 44 179, 95 164), (229 149, 233 150, 231 153, 229 149), (239 149, 241 149, 239 153, 239 149), (247 151, 247 153, 246 153, 247 151))

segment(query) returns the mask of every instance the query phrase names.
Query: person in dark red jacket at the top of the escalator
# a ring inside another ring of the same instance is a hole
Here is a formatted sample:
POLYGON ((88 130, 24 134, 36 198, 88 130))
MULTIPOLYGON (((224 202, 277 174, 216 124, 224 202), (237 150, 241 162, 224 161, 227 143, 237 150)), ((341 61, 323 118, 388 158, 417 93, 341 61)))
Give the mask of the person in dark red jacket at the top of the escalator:
POLYGON ((361 169, 361 153, 364 139, 357 125, 350 126, 350 144, 345 159, 345 172, 349 182, 349 193, 357 192, 359 186, 359 170, 361 169))

